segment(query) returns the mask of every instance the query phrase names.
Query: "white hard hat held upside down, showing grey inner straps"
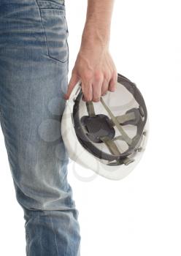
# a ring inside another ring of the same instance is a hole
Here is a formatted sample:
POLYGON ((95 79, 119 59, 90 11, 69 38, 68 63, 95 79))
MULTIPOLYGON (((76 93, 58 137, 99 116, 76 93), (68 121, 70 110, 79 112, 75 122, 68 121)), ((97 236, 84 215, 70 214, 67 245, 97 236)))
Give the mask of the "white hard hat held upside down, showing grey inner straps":
POLYGON ((145 151, 148 118, 136 84, 118 73, 114 92, 100 102, 82 100, 81 80, 66 101, 61 133, 69 157, 100 176, 128 176, 145 151))

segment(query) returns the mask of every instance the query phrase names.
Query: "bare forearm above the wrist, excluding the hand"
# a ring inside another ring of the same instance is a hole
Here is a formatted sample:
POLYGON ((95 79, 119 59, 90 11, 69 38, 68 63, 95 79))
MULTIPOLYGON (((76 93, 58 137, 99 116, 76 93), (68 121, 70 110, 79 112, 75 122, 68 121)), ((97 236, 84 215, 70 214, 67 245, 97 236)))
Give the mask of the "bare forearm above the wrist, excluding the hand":
POLYGON ((82 33, 82 47, 96 43, 101 47, 109 45, 109 34, 114 0, 88 0, 85 27, 82 33))

